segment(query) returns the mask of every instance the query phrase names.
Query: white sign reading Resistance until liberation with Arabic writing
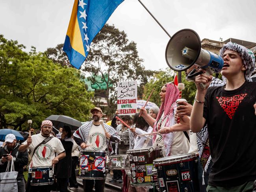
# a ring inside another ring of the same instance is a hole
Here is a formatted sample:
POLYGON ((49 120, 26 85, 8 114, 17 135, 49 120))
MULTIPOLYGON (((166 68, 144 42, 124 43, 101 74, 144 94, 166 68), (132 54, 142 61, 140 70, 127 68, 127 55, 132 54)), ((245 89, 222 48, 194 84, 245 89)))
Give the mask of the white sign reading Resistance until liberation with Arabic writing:
POLYGON ((137 81, 123 81, 117 84, 117 110, 119 115, 137 112, 137 81))

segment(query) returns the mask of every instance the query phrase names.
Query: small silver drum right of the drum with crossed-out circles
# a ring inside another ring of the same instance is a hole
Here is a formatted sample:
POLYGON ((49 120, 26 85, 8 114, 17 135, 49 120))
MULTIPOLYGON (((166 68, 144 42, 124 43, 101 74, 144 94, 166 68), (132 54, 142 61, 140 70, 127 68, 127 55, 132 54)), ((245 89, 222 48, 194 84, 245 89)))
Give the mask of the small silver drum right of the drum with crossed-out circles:
POLYGON ((111 155, 109 157, 109 170, 130 169, 127 155, 111 155))

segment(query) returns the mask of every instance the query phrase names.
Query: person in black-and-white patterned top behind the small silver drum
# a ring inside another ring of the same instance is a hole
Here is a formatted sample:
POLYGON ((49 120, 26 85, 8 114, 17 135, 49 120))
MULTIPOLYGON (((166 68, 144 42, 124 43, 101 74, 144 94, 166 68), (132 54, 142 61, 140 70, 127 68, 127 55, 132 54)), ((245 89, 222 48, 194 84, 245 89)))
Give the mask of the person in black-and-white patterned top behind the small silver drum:
MULTIPOLYGON (((132 118, 129 115, 122 115, 121 119, 128 125, 132 125, 132 118)), ((126 154, 126 151, 129 149, 132 149, 133 146, 133 136, 132 132, 128 127, 126 127, 124 124, 120 124, 117 126, 117 134, 120 137, 120 141, 118 144, 118 152, 117 154, 123 155, 126 154)), ((113 170, 113 178, 109 182, 119 182, 122 183, 122 175, 124 178, 124 183, 123 183, 123 191, 126 191, 127 188, 127 175, 124 170, 113 170)))

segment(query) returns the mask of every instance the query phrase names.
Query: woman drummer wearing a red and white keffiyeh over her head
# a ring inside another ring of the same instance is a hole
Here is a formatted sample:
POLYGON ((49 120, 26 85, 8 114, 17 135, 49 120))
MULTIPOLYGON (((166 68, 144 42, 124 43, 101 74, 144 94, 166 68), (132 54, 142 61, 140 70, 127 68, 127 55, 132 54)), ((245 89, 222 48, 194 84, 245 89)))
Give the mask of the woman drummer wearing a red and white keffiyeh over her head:
MULTIPOLYGON (((156 119, 152 118, 145 108, 141 108, 141 116, 147 123, 153 127, 153 132, 159 131, 165 126, 175 124, 174 114, 176 111, 176 100, 179 98, 179 90, 174 83, 165 84, 160 92, 161 107, 156 119)), ((161 147, 163 156, 185 154, 189 150, 189 141, 183 131, 171 132, 168 134, 155 134, 152 136, 153 147, 158 145, 161 147)), ((145 144, 150 142, 150 137, 147 138, 145 144)))

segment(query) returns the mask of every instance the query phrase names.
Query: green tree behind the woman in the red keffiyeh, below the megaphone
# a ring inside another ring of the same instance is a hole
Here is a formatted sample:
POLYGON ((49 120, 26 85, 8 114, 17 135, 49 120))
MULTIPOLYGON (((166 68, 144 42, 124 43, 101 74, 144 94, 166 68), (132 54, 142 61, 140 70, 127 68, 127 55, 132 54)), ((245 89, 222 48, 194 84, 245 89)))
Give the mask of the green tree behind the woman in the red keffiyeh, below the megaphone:
MULTIPOLYGON (((156 105, 160 106, 161 101, 160 101, 159 93, 161 92, 161 88, 166 83, 173 81, 173 78, 174 78, 174 71, 169 68, 167 68, 164 71, 157 72, 153 76, 153 79, 151 79, 150 82, 148 82, 145 85, 144 99, 147 100, 152 89, 155 88, 150 98, 150 102, 156 103, 156 105)), ((182 72, 182 83, 184 83, 185 85, 185 89, 182 91, 182 98, 186 99, 188 103, 193 104, 197 89, 196 89, 195 83, 189 82, 185 78, 186 78, 185 72, 182 72)))

